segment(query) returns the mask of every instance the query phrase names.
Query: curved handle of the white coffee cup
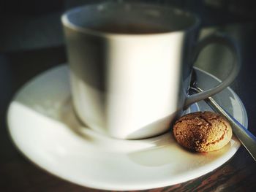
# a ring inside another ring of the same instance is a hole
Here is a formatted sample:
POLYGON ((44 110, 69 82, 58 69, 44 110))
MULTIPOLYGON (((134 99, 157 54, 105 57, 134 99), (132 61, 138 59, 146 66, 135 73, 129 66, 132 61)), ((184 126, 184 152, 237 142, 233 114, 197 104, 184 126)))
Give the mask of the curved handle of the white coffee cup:
POLYGON ((200 53, 201 50, 203 50, 204 47, 207 45, 210 45, 212 43, 217 43, 220 45, 225 45, 227 48, 229 48, 230 52, 233 55, 233 69, 231 70, 230 74, 228 74, 227 78, 220 82, 218 85, 216 85, 214 88, 210 88, 206 91, 203 91, 201 93, 195 93, 191 96, 187 96, 187 99, 185 100, 185 107, 188 107, 190 104, 193 104, 197 101, 206 99, 210 96, 213 96, 216 93, 219 93, 224 88, 227 88, 228 85, 230 85, 233 80, 235 80, 236 76, 238 75, 238 72, 241 67, 241 58, 238 51, 238 47, 235 42, 233 42, 232 39, 225 36, 224 34, 212 34, 209 37, 206 37, 202 41, 198 42, 198 44, 195 47, 195 54, 194 54, 194 60, 197 59, 197 55, 200 53))

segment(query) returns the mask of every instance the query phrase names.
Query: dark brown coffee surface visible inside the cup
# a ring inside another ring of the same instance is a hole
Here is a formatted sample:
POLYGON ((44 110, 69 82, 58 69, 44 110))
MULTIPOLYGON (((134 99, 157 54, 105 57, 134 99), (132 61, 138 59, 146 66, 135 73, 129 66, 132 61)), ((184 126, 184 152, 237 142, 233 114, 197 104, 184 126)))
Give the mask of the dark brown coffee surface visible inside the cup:
POLYGON ((113 34, 159 34, 170 31, 170 29, 163 26, 137 23, 108 23, 102 26, 91 26, 90 28, 94 31, 113 34))

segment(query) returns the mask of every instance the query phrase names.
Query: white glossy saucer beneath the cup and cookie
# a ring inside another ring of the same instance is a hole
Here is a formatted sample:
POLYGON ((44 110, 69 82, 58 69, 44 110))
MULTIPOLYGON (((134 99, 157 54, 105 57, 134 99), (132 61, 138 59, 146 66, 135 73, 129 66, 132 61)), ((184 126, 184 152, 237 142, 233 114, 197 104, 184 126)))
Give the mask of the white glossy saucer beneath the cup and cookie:
MULTIPOLYGON (((159 188, 191 180, 224 164, 238 150, 233 137, 222 150, 190 153, 171 133, 142 140, 111 139, 75 118, 70 101, 69 69, 50 69, 20 89, 10 104, 8 124, 18 149, 34 164, 79 185, 106 190, 159 188)), ((201 88, 217 83, 197 69, 201 88)), ((230 88, 215 96, 247 127, 244 105, 230 88)), ((209 110, 201 101, 187 112, 209 110)))

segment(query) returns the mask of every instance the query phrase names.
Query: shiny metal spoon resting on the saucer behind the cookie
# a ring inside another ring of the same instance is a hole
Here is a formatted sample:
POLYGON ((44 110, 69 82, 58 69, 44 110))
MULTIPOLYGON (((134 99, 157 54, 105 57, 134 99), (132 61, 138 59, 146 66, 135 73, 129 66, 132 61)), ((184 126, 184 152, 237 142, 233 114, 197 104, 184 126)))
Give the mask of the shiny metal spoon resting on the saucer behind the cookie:
MULTIPOLYGON (((197 76, 195 69, 192 71, 192 77, 190 82, 190 89, 195 91, 195 93, 200 93, 203 90, 197 86, 197 76)), ((226 110, 224 110, 212 97, 205 99, 206 103, 211 107, 212 110, 218 112, 219 114, 225 116, 229 120, 232 126, 233 132, 236 137, 240 140, 241 144, 244 145, 246 150, 252 155, 252 158, 256 161, 256 137, 248 131, 241 123, 238 122, 232 115, 230 115, 226 110)))

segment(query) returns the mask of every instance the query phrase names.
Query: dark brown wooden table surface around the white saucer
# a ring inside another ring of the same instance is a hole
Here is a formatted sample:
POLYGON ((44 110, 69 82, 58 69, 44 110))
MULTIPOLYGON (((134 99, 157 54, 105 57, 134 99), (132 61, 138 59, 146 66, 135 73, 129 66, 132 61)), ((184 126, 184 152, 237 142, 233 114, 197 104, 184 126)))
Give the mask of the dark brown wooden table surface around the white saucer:
MULTIPOLYGON (((244 103, 249 130, 256 135, 255 37, 246 39, 243 65, 233 89, 244 103)), ((0 53, 0 191, 98 191, 61 180, 39 169, 12 144, 6 113, 12 96, 32 77, 67 62, 64 46, 0 53)), ((256 164, 240 147, 225 164, 186 183, 148 191, 255 191, 256 164)))

